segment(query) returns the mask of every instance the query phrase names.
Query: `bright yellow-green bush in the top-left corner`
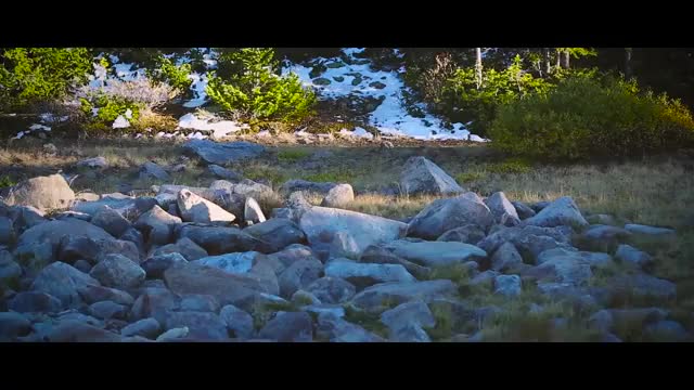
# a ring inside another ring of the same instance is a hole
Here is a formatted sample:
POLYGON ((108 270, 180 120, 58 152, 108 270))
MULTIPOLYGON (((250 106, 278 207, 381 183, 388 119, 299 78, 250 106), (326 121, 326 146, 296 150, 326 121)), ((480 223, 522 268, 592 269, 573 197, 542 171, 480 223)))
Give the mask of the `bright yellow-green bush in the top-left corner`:
POLYGON ((67 94, 92 68, 87 48, 13 48, 0 55, 0 108, 21 109, 67 94))

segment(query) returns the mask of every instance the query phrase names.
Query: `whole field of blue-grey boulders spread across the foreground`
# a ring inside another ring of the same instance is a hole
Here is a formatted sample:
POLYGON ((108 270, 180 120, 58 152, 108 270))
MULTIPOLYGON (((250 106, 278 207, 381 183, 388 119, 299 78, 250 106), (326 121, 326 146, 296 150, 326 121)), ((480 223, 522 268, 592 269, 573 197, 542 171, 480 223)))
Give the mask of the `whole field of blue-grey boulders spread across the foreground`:
MULTIPOLYGON (((557 329, 581 321, 595 340, 618 341, 625 324, 638 324, 644 335, 691 340, 666 309, 612 307, 625 292, 676 297, 673 283, 647 272, 651 256, 624 244, 672 230, 590 224, 570 197, 483 198, 423 157, 402 167, 401 187, 448 197, 403 221, 340 209, 354 199, 349 183, 288 182, 285 207, 262 210, 255 199, 272 188, 223 168, 262 146, 187 147, 228 180, 139 197, 76 196, 60 174, 10 190, 0 204, 0 339, 484 341, 486 325, 506 313, 478 298, 537 294, 583 313, 553 317, 557 329), (306 192, 322 194, 321 206, 306 192)), ((528 315, 550 310, 531 303, 528 315)))

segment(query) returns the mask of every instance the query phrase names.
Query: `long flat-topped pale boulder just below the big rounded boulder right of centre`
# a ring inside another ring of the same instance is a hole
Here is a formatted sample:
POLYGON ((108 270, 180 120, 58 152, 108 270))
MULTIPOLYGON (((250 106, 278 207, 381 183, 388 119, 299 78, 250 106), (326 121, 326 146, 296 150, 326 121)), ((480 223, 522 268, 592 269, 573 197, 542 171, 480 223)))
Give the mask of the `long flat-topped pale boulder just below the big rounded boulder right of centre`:
POLYGON ((419 242, 404 239, 390 242, 384 246, 396 256, 425 266, 446 266, 466 261, 480 261, 487 257, 483 249, 455 242, 419 242))

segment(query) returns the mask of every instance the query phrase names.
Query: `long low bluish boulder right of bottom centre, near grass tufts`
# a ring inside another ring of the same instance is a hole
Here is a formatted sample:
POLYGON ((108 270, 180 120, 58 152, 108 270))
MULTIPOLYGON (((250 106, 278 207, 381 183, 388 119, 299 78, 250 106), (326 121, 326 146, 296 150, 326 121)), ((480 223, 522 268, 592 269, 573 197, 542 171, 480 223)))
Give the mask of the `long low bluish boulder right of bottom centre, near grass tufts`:
POLYGON ((421 299, 448 298, 458 292, 453 282, 435 280, 425 282, 391 282, 373 285, 352 297, 351 303, 361 309, 380 307, 386 302, 404 303, 421 299))

